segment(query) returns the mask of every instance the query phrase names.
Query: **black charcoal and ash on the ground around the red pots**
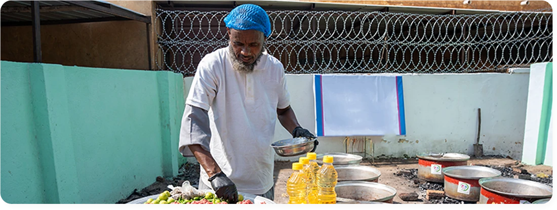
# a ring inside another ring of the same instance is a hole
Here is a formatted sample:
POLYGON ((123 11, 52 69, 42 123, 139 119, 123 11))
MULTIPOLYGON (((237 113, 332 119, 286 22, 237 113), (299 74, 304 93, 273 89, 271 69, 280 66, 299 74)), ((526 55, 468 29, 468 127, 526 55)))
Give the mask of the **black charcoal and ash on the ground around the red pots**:
MULTIPOLYGON (((548 175, 548 177, 537 177, 535 174, 528 173, 524 169, 520 169, 520 172, 513 170, 511 167, 504 167, 504 166, 492 166, 492 165, 480 165, 478 166, 489 167, 492 169, 499 170, 501 172, 501 177, 507 178, 520 178, 526 180, 532 180, 534 182, 539 182, 546 184, 553 188, 553 175, 548 175)), ((395 173, 395 175, 402 176, 405 179, 410 180, 414 187, 418 187, 419 197, 426 198, 426 191, 433 190, 433 191, 444 191, 444 183, 434 183, 434 182, 427 182, 425 180, 418 178, 418 169, 405 169, 395 173), (403 173, 400 173, 403 172, 403 173)), ((425 200, 425 199, 424 199, 425 200)), ((468 201, 459 201, 457 199, 449 198, 445 196, 442 199, 432 199, 428 202, 434 204, 476 204, 476 202, 468 202, 468 201)))

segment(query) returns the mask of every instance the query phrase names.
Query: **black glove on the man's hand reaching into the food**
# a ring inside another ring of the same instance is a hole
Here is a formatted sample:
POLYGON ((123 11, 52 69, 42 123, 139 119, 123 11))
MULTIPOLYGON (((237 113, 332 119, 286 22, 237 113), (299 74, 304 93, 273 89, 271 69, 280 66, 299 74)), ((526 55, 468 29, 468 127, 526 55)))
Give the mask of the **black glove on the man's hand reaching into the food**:
POLYGON ((211 187, 218 198, 225 199, 228 204, 236 204, 238 202, 238 191, 236 184, 230 180, 226 174, 219 172, 209 177, 211 187))

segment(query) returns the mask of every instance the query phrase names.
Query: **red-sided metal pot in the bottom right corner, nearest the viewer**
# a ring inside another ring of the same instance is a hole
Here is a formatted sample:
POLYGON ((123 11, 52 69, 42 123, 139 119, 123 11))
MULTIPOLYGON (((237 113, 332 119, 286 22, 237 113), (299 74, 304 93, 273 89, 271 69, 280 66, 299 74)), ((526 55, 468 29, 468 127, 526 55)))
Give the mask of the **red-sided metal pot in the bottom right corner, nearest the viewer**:
POLYGON ((482 178, 479 204, 520 204, 553 197, 553 188, 538 182, 505 177, 482 178))

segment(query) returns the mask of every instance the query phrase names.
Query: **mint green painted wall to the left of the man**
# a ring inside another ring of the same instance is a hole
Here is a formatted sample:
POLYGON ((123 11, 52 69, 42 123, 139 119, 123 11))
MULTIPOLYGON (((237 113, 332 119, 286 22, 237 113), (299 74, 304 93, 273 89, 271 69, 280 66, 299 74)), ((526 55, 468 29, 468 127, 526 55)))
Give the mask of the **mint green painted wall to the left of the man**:
POLYGON ((0 61, 0 198, 115 203, 178 174, 182 75, 0 61))

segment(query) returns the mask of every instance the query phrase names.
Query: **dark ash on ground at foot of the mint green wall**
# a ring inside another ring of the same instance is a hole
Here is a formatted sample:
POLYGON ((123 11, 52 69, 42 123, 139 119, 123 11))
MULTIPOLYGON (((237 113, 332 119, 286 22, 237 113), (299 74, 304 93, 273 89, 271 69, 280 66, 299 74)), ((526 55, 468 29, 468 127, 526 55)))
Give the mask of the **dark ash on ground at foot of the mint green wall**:
POLYGON ((121 199, 116 202, 116 204, 124 204, 134 201, 135 199, 160 194, 164 191, 170 191, 168 185, 173 185, 175 187, 182 186, 182 183, 185 181, 189 181, 190 185, 197 188, 199 185, 199 169, 199 163, 186 163, 178 169, 178 175, 176 177, 166 179, 163 177, 157 177, 153 184, 141 189, 140 191, 138 191, 138 189, 134 189, 134 192, 132 192, 130 196, 125 199, 121 199))

